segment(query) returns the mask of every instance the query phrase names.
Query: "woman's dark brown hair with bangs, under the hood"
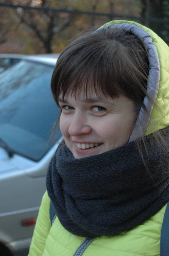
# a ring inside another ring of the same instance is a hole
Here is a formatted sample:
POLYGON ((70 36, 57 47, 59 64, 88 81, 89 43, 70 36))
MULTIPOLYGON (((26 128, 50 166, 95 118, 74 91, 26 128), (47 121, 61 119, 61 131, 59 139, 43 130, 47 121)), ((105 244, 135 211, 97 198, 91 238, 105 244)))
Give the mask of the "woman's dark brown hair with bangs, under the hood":
MULTIPOLYGON (((148 73, 148 52, 141 39, 125 29, 99 29, 84 33, 62 51, 51 90, 57 105, 59 94, 64 98, 69 89, 75 97, 81 90, 86 98, 91 90, 98 98, 123 94, 135 102, 137 115, 141 107, 145 109, 148 73)), ((59 118, 54 131, 58 122, 59 118)))

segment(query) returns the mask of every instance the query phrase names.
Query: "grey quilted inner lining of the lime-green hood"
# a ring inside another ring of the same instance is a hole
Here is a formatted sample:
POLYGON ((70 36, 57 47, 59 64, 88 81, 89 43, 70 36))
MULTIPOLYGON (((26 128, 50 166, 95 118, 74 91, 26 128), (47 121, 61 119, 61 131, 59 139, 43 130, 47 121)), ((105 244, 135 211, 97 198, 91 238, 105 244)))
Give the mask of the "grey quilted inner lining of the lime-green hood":
POLYGON ((144 45, 149 52, 149 76, 147 82, 147 94, 152 99, 152 101, 149 100, 147 96, 144 98, 144 105, 146 106, 149 115, 147 115, 147 112, 144 110, 144 108, 140 109, 140 112, 138 113, 138 118, 135 122, 135 127, 133 128, 132 134, 130 136, 130 143, 133 140, 136 140, 139 137, 141 137, 141 135, 145 133, 146 128, 149 124, 149 119, 152 113, 152 109, 154 107, 153 102, 155 102, 159 90, 160 61, 158 57, 157 48, 155 44, 152 42, 151 35, 149 35, 149 33, 142 29, 140 26, 132 23, 117 23, 101 27, 100 29, 107 29, 110 27, 115 27, 117 29, 123 28, 127 31, 132 32, 134 35, 138 36, 138 38, 140 38, 144 42, 144 45))

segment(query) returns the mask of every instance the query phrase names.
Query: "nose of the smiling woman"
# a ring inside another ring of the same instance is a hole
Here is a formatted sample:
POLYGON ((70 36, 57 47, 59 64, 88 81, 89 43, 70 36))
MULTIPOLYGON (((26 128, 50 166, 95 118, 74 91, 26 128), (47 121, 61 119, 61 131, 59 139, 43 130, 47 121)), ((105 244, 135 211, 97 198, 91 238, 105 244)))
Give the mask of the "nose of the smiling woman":
POLYGON ((87 125, 87 117, 84 113, 75 113, 69 126, 69 134, 71 136, 79 136, 80 134, 90 134, 92 128, 87 125))

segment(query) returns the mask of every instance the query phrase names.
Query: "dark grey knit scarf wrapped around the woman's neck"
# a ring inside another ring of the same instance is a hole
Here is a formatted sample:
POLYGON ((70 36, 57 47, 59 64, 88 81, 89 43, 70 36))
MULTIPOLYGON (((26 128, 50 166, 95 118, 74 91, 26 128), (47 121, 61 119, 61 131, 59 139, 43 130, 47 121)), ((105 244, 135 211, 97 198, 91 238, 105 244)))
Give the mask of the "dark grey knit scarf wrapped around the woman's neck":
POLYGON ((169 128, 161 135, 166 147, 145 137, 146 167, 135 142, 82 159, 59 145, 47 190, 63 227, 84 237, 115 235, 155 215, 169 201, 169 128))

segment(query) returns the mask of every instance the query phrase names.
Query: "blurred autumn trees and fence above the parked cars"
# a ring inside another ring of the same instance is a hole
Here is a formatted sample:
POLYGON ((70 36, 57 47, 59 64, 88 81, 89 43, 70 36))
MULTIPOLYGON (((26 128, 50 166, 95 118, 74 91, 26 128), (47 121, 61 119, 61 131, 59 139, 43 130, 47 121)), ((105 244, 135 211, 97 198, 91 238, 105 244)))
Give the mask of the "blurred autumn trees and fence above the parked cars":
POLYGON ((0 0, 0 53, 58 53, 114 18, 149 26, 169 44, 169 0, 0 0))

